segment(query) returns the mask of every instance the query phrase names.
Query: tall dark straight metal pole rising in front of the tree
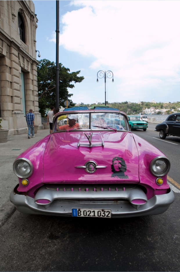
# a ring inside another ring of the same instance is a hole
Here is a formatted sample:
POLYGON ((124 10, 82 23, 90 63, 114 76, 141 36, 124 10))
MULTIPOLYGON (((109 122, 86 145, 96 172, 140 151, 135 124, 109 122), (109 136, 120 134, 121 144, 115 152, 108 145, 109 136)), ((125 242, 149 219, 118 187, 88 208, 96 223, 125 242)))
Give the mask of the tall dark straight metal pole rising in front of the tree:
POLYGON ((56 108, 59 108, 59 1, 56 0, 56 108))

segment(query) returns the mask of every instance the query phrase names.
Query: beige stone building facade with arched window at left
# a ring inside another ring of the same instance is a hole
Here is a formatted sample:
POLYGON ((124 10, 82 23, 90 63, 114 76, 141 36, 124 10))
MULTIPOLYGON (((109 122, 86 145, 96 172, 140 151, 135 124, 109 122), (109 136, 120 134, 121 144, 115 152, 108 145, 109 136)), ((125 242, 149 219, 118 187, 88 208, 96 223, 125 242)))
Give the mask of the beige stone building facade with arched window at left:
POLYGON ((43 128, 38 106, 33 1, 0 1, 0 118, 8 136, 27 130, 26 113, 43 128))

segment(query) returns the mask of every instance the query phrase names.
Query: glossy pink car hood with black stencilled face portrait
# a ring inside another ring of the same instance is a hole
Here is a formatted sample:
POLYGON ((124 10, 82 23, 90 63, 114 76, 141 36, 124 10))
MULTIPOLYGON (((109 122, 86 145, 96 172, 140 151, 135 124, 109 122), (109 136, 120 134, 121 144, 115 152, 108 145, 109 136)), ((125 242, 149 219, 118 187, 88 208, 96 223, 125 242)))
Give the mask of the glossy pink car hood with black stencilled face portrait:
POLYGON ((138 150, 133 135, 125 131, 51 134, 44 152, 43 167, 43 182, 139 182, 138 150), (112 160, 116 157, 123 159, 125 171, 111 169, 112 160), (87 173, 83 166, 89 161, 101 167, 94 173, 87 173))

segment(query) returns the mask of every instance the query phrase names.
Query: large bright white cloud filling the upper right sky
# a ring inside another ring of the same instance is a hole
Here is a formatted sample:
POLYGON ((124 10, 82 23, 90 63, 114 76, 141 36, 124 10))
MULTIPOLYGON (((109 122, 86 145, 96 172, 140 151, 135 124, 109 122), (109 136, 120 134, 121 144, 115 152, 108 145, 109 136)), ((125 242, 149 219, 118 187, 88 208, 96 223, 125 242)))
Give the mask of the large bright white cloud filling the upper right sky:
POLYGON ((179 84, 180 1, 74 0, 71 6, 61 18, 60 45, 92 57, 89 69, 113 70, 129 93, 179 84))

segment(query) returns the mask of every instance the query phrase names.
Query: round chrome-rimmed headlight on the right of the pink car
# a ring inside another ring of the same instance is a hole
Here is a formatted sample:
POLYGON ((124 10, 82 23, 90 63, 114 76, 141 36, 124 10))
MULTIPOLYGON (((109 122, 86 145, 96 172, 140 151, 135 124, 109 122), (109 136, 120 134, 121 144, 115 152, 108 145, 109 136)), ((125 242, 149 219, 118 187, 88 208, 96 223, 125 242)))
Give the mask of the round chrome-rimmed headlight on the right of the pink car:
POLYGON ((170 170, 170 161, 166 157, 156 157, 150 163, 150 172, 156 176, 165 176, 170 170))

